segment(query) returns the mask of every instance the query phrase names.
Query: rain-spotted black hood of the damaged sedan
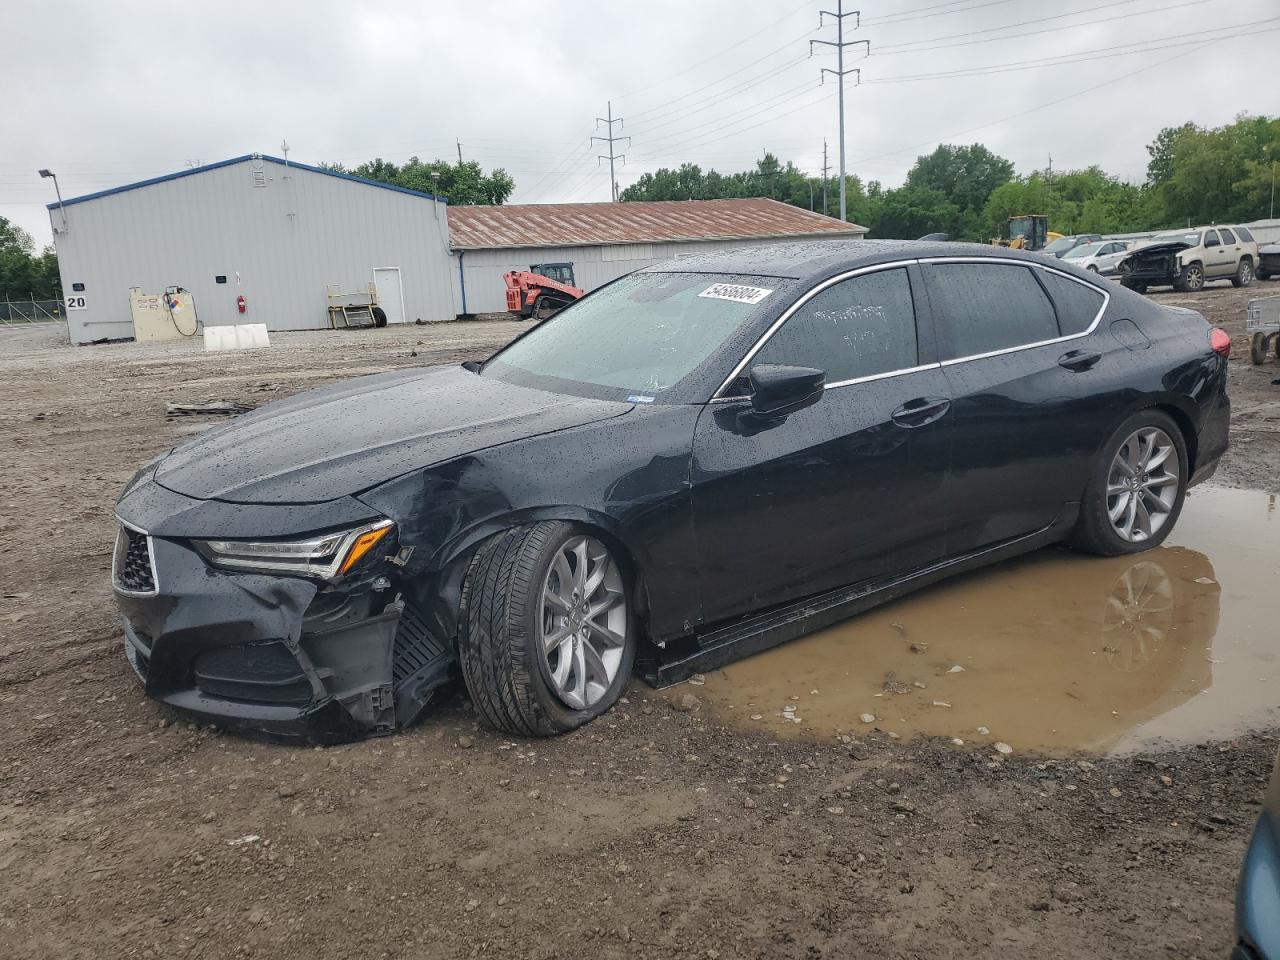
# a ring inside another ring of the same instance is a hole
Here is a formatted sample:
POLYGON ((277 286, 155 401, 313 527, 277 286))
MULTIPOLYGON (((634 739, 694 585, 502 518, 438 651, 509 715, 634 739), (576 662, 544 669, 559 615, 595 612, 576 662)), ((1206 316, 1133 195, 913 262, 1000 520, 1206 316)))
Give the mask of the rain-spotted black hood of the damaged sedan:
POLYGON ((319 503, 486 447, 618 416, 628 403, 517 387, 457 366, 344 380, 174 447, 155 480, 233 503, 319 503))

